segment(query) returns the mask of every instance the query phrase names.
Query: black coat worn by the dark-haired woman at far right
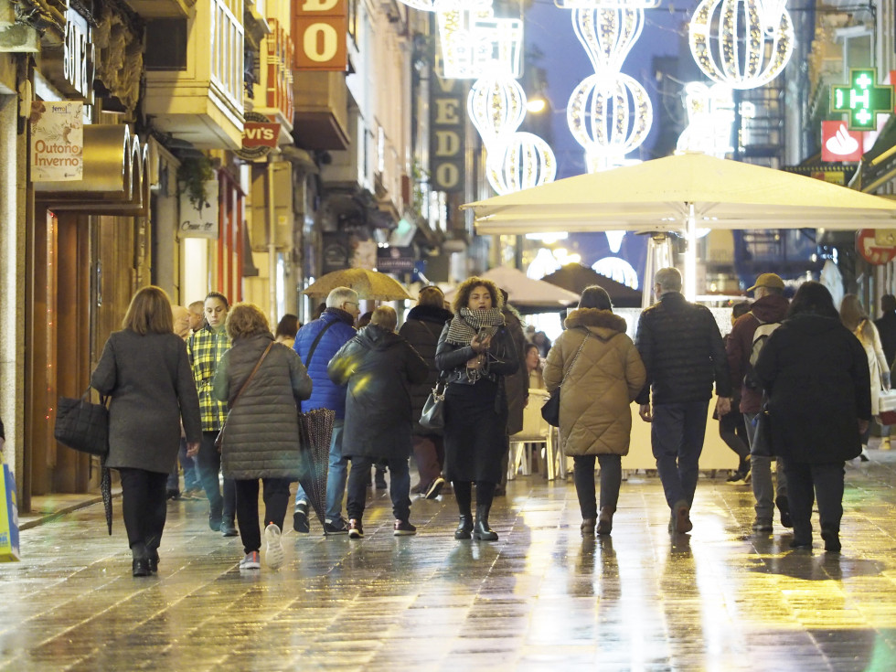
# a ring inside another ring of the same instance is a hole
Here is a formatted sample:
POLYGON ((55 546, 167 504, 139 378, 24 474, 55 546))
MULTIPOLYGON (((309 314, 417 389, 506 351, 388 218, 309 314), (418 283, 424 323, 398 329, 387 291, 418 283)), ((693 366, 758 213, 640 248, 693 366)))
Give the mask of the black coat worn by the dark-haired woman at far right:
POLYGON ((755 370, 769 394, 774 454, 803 464, 859 456, 858 420, 871 417, 868 357, 839 320, 806 314, 784 320, 755 370))

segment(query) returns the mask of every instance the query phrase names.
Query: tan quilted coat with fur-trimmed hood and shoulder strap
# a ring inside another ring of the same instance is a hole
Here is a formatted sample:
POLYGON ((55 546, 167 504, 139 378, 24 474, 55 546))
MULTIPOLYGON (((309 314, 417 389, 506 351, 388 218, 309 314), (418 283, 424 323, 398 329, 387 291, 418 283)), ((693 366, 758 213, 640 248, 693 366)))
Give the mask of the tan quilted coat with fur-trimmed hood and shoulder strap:
POLYGON ((646 371, 625 320, 608 310, 577 308, 550 348, 544 380, 560 390, 560 444, 567 455, 626 455, 632 433, 630 405, 646 371), (587 336, 587 340, 585 340, 587 336), (576 352, 581 352, 575 360, 576 352))

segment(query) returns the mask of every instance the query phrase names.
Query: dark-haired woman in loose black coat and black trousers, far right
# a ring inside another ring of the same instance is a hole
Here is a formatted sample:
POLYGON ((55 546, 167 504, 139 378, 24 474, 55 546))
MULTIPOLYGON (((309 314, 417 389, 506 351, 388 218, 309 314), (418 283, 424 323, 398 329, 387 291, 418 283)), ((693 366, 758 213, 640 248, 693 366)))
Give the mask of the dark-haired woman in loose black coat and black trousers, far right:
POLYGON ((840 550, 843 464, 859 456, 871 418, 868 358, 821 283, 800 285, 759 355, 772 448, 784 458, 795 549, 812 548, 813 487, 825 549, 840 550))

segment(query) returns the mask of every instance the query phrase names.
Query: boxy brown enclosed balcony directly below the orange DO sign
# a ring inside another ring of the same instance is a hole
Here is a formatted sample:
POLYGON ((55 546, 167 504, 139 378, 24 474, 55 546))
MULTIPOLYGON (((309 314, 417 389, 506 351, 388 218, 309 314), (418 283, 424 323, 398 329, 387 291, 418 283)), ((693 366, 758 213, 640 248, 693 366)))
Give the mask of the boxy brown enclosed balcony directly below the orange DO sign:
POLYGON ((293 92, 296 144, 304 149, 347 149, 346 73, 293 70, 293 92))

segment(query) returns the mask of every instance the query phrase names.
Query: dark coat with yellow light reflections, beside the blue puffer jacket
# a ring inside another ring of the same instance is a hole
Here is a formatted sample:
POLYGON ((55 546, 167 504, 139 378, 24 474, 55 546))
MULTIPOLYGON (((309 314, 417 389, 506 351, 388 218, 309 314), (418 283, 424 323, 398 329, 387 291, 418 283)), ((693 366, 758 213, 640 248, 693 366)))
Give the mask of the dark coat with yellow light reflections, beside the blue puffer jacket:
POLYGON ((367 325, 339 348, 326 372, 335 385, 348 385, 343 454, 411 457, 411 386, 429 368, 407 339, 367 325))

